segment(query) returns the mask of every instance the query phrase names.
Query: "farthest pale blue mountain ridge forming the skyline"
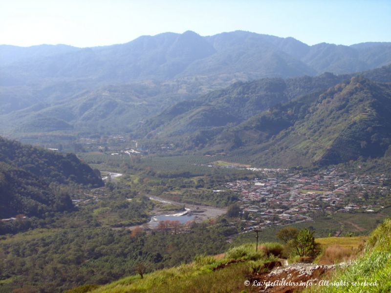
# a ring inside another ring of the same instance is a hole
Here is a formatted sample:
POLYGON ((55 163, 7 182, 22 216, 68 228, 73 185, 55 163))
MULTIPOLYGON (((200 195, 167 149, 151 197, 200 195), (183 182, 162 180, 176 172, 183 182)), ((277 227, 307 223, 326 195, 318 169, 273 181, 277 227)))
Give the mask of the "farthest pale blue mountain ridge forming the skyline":
POLYGON ((47 78, 118 83, 234 73, 253 79, 292 77, 324 71, 348 73, 391 62, 390 43, 308 46, 293 38, 245 31, 208 37, 192 31, 163 33, 125 44, 83 49, 64 45, 1 46, 0 53, 3 85, 47 78))

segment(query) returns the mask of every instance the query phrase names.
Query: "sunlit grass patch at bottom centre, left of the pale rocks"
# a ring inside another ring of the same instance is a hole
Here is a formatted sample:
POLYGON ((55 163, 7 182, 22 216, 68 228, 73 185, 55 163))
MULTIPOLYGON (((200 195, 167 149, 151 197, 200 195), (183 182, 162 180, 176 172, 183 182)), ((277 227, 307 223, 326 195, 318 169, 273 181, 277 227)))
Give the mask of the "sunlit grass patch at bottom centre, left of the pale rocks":
MULTIPOLYGON (((279 244, 265 243, 261 246, 273 249, 279 244)), ((256 252, 255 243, 249 243, 232 248, 223 255, 197 255, 190 264, 147 273, 144 274, 143 279, 139 275, 132 275, 101 286, 92 292, 240 292, 248 290, 243 282, 248 279, 250 272, 264 268, 265 262, 275 259, 273 256, 267 257, 262 251, 256 252), (222 267, 218 267, 219 265, 222 267)), ((69 293, 77 290, 78 288, 75 288, 69 293)))

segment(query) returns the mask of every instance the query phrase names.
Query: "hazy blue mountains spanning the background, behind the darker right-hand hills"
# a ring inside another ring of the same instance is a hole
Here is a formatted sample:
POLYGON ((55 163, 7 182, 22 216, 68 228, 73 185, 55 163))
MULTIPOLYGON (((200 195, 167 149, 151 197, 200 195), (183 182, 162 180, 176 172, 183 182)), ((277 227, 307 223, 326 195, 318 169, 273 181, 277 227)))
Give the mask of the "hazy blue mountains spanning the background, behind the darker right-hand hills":
MULTIPOLYGON (((208 37, 163 33, 92 48, 2 45, 0 131, 20 139, 53 131, 120 133, 170 105, 238 81, 342 74, 389 63, 390 43, 308 46, 244 31, 208 37)), ((282 92, 274 94, 287 101, 282 92)), ((205 111, 223 124, 237 120, 236 113, 205 111)))

